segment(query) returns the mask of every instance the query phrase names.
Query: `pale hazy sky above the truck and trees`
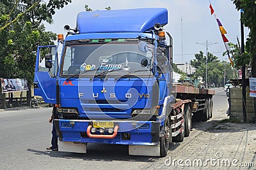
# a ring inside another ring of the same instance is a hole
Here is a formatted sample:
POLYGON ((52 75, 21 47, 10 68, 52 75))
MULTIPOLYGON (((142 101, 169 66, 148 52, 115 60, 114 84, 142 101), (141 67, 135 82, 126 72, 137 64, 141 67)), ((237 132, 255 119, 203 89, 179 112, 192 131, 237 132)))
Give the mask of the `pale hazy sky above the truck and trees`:
MULTIPOLYGON (((45 24, 46 31, 57 34, 67 34, 64 25, 76 27, 76 16, 84 11, 84 4, 88 4, 92 10, 104 10, 110 6, 111 10, 130 8, 161 7, 168 10, 168 24, 164 30, 170 32, 173 37, 173 62, 185 63, 195 59, 195 53, 206 52, 206 41, 217 43, 208 46, 208 52, 213 53, 220 60, 226 60, 222 56, 225 45, 221 38, 220 29, 214 15, 211 15, 209 0, 72 0, 60 10, 56 10, 53 16, 54 23, 45 24), (199 45, 202 43, 204 45, 199 45)), ((212 8, 227 31, 225 36, 232 43, 237 43, 237 37, 241 42, 240 11, 231 0, 212 0, 212 8)), ((139 17, 139 16, 138 16, 139 17)), ((248 35, 248 29, 244 29, 244 39, 248 35)))

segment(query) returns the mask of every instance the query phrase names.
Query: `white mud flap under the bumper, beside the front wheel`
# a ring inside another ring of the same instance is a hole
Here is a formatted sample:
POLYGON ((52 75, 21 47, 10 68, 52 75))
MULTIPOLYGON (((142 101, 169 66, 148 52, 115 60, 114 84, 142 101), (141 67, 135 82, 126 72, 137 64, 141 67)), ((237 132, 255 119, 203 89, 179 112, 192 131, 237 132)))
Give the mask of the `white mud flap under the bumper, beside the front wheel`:
POLYGON ((160 157, 160 145, 129 145, 129 155, 160 157))

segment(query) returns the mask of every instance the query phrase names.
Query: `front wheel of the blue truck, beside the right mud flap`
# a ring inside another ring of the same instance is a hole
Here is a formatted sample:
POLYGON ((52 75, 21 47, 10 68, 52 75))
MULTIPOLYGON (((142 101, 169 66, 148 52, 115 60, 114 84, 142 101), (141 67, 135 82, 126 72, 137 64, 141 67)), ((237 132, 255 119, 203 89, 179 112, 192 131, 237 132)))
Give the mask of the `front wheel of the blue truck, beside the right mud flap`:
POLYGON ((169 150, 169 143, 172 142, 172 134, 170 131, 170 120, 169 117, 164 121, 164 136, 159 139, 160 141, 160 156, 165 157, 169 150))

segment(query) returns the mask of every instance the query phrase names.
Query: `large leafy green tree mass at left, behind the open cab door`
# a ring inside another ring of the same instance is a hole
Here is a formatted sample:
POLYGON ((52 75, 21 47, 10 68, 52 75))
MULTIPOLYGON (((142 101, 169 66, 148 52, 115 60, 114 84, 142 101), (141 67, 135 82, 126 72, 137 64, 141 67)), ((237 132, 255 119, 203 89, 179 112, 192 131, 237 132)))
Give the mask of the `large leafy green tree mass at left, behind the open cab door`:
MULTIPOLYGON (((55 10, 71 0, 1 0, 0 3, 0 76, 26 78, 33 82, 36 47, 51 45, 56 34, 45 31, 43 21, 53 22, 55 10)), ((29 91, 28 100, 31 98, 29 91)))

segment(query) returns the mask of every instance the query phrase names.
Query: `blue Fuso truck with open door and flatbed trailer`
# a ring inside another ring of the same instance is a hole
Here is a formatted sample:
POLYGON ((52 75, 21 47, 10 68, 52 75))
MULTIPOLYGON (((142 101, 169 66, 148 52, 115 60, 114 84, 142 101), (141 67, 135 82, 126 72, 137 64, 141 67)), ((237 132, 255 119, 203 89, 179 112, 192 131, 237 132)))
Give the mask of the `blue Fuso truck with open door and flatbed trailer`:
POLYGON ((211 118, 214 91, 173 84, 166 24, 165 8, 82 11, 58 45, 38 46, 34 94, 54 104, 59 152, 106 143, 165 157, 193 114, 211 118))

